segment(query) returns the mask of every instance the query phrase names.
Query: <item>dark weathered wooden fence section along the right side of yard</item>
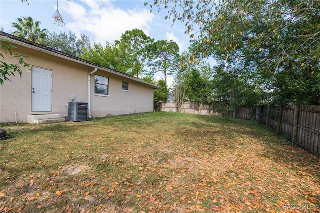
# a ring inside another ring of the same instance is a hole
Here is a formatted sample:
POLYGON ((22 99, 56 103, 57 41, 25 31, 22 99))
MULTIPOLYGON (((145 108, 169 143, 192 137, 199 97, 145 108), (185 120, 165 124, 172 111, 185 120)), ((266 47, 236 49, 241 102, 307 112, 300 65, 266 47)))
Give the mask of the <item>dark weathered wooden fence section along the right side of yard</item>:
POLYGON ((320 156, 320 106, 261 106, 257 111, 259 123, 278 135, 290 136, 293 144, 320 156))

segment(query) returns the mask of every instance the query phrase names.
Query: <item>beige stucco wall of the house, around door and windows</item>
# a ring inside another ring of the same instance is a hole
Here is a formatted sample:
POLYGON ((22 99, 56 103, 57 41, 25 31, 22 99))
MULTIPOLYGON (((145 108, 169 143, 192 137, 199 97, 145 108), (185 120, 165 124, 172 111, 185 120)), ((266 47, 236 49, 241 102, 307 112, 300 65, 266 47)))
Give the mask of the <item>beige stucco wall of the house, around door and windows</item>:
MULTIPOLYGON (((52 110, 48 113, 67 115, 67 103, 71 96, 77 102, 88 102, 88 73, 94 67, 79 64, 44 52, 39 52, 23 46, 12 49, 29 56, 28 63, 34 67, 52 71, 52 110)), ((3 50, 1 49, 3 54, 3 50)), ((7 63, 16 63, 3 54, 7 63)), ((22 68, 22 77, 17 74, 0 86, 0 122, 14 122, 15 113, 18 122, 26 122, 26 116, 36 114, 31 112, 31 70, 22 68)), ((144 83, 127 79, 103 70, 97 70, 90 76, 91 116, 118 115, 153 110, 153 87, 144 83), (109 78, 109 97, 94 95, 94 74, 109 78), (122 91, 122 81, 129 83, 129 92, 122 91)), ((44 114, 44 113, 43 113, 44 114)))

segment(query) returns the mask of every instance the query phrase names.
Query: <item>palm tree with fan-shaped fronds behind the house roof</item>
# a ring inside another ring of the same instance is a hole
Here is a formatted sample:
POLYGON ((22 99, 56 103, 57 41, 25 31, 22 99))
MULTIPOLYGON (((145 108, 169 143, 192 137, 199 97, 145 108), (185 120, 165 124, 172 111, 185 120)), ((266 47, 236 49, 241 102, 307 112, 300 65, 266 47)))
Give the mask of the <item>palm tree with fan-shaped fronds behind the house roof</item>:
POLYGON ((40 29, 40 21, 33 21, 30 16, 17 18, 16 20, 12 23, 12 27, 15 28, 15 31, 12 32, 13 35, 35 43, 42 43, 46 37, 47 29, 40 29))

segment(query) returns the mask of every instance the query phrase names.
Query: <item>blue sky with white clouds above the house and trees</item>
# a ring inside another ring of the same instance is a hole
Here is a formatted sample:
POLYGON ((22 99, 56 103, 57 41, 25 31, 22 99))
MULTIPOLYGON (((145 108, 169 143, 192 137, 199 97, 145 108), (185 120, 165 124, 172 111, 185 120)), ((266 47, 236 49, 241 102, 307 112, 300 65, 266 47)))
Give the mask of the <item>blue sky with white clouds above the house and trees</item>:
MULTIPOLYGON (((40 28, 50 32, 72 31, 90 36, 91 41, 112 43, 120 39, 125 30, 134 28, 155 40, 173 40, 186 50, 189 37, 184 34, 184 24, 165 20, 167 11, 153 11, 144 6, 145 0, 58 0, 58 10, 64 19, 64 25, 53 23, 52 15, 56 10, 56 0, 0 0, 0 26, 4 32, 13 31, 11 23, 16 18, 31 16, 40 21, 40 28), (28 3, 28 4, 27 4, 28 3)), ((158 74, 159 75, 159 74, 158 74)), ((161 76, 161 75, 160 75, 161 76)), ((169 78, 168 81, 171 81, 169 78)))

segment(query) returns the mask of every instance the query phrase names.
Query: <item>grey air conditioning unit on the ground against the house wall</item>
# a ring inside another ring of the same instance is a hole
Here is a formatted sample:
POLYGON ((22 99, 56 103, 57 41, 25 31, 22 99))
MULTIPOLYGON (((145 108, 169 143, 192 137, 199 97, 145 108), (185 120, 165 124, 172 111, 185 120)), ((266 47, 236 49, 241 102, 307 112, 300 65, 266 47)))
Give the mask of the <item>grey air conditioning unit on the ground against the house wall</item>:
POLYGON ((68 120, 86 121, 88 112, 88 103, 68 102, 68 120))

